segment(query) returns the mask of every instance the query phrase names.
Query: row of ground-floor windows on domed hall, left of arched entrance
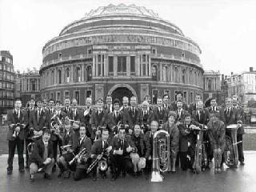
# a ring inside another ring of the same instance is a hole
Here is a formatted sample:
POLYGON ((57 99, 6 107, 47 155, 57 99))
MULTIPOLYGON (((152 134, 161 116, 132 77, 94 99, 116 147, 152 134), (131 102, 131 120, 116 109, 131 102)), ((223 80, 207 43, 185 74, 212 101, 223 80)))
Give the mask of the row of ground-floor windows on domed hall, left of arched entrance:
MULTIPOLYGON (((72 93, 72 92, 71 92, 72 93)), ((92 90, 86 90, 86 97, 85 98, 90 98, 92 96, 92 90)), ((75 98, 77 101, 78 101, 78 105, 80 104, 84 104, 84 103, 81 103, 80 101, 80 90, 74 90, 73 94, 70 94, 70 91, 69 90, 65 90, 63 92, 61 91, 56 91, 55 93, 54 92, 50 92, 49 93, 44 93, 42 94, 42 97, 43 98, 52 98, 56 101, 61 101, 61 102, 64 102, 64 99, 65 98, 75 98), (63 97, 61 96, 63 95, 63 97)))

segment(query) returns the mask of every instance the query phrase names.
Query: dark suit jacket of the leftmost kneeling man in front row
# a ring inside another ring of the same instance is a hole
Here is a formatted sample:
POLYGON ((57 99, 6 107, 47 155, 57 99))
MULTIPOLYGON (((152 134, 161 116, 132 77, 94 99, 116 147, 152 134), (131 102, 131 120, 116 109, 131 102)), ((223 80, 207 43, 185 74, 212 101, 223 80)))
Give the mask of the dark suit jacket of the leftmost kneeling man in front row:
MULTIPOLYGON (((54 148, 53 143, 51 141, 48 142, 48 158, 54 158, 54 148)), ((31 154, 30 162, 36 163, 38 166, 42 166, 42 162, 44 162, 43 154, 45 151, 45 145, 40 138, 38 141, 34 142, 34 148, 31 154)))

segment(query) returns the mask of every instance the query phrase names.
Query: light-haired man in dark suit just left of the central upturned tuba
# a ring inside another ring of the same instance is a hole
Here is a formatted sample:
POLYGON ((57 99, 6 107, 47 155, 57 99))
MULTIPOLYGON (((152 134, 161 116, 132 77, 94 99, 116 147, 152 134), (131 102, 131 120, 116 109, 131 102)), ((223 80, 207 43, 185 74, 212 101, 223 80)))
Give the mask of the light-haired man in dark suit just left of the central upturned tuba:
POLYGON ((145 141, 146 141, 146 167, 144 173, 148 175, 152 171, 152 163, 153 163, 153 141, 154 141, 154 133, 158 130, 158 122, 152 121, 150 123, 150 131, 146 132, 145 134, 145 141))

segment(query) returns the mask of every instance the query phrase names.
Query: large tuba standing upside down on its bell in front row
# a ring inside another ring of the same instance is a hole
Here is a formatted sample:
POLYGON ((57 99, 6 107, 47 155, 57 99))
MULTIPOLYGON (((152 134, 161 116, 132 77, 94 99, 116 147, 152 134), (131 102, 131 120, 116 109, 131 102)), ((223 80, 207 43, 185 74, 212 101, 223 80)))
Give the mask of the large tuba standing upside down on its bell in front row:
POLYGON ((166 130, 158 130, 153 136, 153 167, 151 182, 162 182, 161 173, 170 167, 170 134, 166 130))

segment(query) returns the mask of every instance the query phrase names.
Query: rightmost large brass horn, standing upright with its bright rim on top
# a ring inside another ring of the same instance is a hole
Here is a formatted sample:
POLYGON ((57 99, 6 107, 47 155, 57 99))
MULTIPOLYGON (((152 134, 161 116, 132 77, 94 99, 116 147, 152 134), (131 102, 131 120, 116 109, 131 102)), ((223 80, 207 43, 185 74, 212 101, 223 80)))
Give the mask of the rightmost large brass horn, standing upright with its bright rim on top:
POLYGON ((230 130, 231 138, 230 136, 226 135, 226 147, 224 151, 225 163, 226 163, 226 166, 237 167, 238 166, 238 143, 240 143, 240 142, 237 142, 238 125, 231 124, 230 126, 226 126, 226 129, 230 130))

